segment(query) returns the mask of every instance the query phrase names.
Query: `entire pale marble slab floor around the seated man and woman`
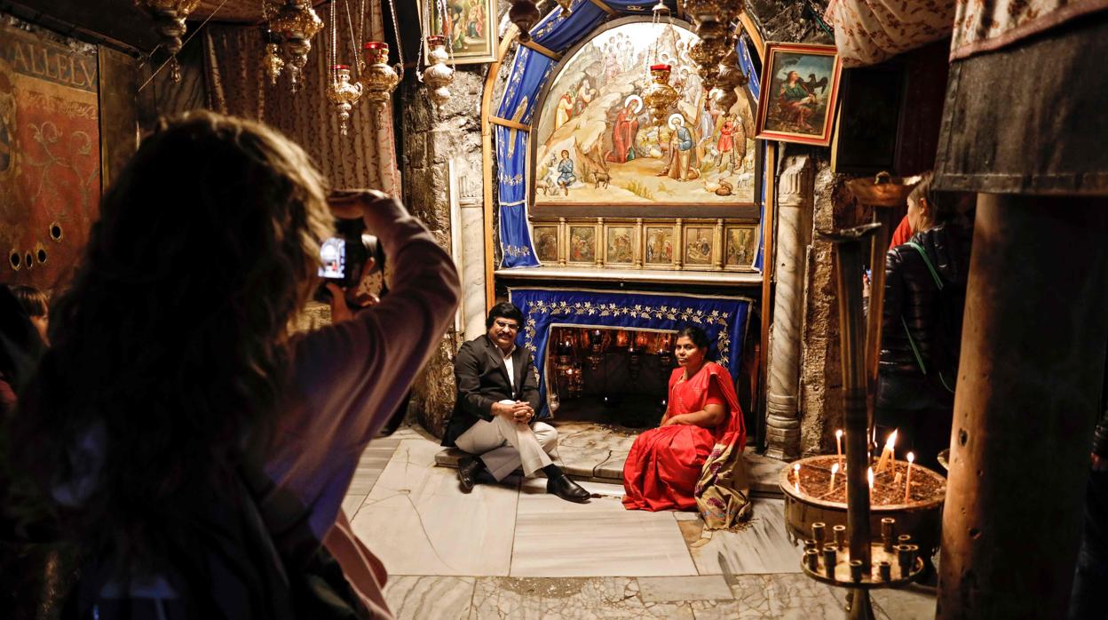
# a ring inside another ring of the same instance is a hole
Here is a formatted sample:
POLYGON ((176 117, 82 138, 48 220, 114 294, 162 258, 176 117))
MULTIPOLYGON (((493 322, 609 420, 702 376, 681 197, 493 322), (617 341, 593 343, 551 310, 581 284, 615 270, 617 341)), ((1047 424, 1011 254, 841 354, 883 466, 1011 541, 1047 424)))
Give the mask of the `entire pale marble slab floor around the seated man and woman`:
MULTIPOLYGON (((749 527, 706 532, 695 512, 623 508, 623 487, 612 482, 633 436, 613 439, 612 429, 584 423, 560 434, 562 461, 593 492, 588 504, 560 500, 545 480, 517 476, 464 495, 453 459, 420 428, 371 444, 343 508, 389 570, 386 597, 397 618, 843 617, 844 591, 800 572, 783 501, 769 490, 756 495, 749 527)), ((767 488, 781 467, 750 465, 767 488)), ((932 588, 873 600, 879 618, 935 612, 932 588)))

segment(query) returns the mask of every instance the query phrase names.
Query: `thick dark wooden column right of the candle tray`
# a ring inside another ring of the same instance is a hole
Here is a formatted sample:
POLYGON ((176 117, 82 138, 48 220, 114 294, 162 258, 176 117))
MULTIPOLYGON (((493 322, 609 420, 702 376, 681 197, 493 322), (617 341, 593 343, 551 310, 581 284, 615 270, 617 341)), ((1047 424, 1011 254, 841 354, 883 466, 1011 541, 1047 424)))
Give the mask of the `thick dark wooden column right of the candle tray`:
POLYGON ((937 617, 1065 618, 1108 342, 1108 200, 977 199, 937 617))

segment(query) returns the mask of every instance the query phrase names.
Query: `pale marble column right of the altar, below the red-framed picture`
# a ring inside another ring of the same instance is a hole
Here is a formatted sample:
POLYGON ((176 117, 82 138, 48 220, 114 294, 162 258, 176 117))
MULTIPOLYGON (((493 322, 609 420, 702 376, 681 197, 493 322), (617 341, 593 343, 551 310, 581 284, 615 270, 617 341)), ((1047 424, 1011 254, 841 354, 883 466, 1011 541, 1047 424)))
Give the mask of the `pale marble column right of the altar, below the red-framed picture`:
POLYGON ((793 459, 800 456, 800 419, 797 396, 800 385, 800 327, 803 313, 804 248, 803 209, 811 209, 815 192, 812 164, 807 155, 783 162, 778 181, 777 240, 773 275, 773 325, 770 335, 769 389, 767 390, 767 456, 793 459))

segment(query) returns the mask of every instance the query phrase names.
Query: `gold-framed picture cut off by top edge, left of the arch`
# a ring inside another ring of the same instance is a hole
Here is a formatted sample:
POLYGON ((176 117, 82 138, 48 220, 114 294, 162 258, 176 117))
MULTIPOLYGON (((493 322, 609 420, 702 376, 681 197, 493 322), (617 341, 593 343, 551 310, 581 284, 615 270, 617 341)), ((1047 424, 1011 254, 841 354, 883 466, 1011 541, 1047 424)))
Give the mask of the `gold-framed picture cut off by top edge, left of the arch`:
MULTIPOLYGON (((448 19, 439 19, 439 2, 423 0, 418 3, 423 32, 447 38, 447 51, 454 64, 482 64, 496 60, 500 38, 496 33, 496 2, 494 0, 443 0, 448 19), (491 18, 490 18, 491 16, 491 18)), ((423 58, 430 53, 423 39, 423 58)))

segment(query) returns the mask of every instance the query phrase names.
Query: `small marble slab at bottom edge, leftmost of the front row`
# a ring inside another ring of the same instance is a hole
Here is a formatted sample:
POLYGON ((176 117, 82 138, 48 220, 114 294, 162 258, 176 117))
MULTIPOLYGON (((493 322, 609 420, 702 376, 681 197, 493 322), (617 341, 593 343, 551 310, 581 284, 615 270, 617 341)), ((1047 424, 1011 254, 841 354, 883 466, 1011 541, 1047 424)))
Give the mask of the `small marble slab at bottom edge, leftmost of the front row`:
POLYGON ((461 620, 470 617, 473 577, 389 576, 384 600, 397 620, 461 620))

